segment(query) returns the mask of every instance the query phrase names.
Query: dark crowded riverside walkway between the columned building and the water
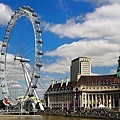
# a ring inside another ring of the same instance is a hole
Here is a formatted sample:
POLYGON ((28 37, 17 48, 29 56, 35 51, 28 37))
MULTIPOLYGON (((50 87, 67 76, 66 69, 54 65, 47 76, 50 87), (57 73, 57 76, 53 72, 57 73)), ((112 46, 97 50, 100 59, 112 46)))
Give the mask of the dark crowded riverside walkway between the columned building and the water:
POLYGON ((66 117, 80 117, 80 118, 95 118, 95 119, 115 119, 120 120, 120 112, 118 111, 106 111, 104 109, 94 111, 66 111, 66 110, 45 110, 39 112, 41 115, 59 115, 66 117))

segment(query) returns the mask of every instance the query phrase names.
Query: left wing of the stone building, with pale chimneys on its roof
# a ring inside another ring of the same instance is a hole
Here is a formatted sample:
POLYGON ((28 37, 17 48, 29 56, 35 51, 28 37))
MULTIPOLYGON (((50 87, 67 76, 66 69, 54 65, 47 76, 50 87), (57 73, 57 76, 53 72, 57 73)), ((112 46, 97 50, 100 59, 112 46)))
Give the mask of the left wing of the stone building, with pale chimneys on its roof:
POLYGON ((68 78, 66 78, 66 82, 61 81, 61 83, 52 84, 46 91, 45 97, 45 107, 50 109, 66 109, 70 106, 70 103, 73 103, 74 99, 74 91, 73 87, 76 82, 68 82, 68 78))

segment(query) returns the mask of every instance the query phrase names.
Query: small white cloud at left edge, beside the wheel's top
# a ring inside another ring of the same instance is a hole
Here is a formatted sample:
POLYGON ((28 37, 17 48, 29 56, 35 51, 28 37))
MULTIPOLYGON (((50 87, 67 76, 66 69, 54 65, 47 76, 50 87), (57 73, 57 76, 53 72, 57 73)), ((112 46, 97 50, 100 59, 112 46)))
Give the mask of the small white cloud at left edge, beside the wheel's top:
POLYGON ((11 15, 13 15, 12 9, 9 6, 0 3, 0 24, 7 25, 8 21, 11 19, 11 15))

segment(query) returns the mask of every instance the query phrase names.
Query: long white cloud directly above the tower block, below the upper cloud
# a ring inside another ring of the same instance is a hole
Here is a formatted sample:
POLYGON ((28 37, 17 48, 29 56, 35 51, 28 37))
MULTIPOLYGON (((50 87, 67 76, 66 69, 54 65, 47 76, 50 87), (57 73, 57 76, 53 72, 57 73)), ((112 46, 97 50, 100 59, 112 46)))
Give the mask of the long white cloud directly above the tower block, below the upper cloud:
POLYGON ((71 44, 64 44, 54 51, 46 52, 45 55, 73 59, 79 55, 102 56, 107 52, 118 51, 119 45, 111 44, 106 40, 80 40, 71 44), (70 54, 68 54, 69 52, 70 54))

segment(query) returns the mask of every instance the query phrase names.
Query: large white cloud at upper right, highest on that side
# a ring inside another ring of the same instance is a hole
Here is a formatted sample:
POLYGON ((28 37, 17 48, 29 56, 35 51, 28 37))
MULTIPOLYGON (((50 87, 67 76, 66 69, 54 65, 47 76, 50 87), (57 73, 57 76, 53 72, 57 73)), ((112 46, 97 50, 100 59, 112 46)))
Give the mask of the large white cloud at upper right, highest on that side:
MULTIPOLYGON (((105 38, 119 34, 120 4, 112 4, 97 8, 93 13, 85 16, 84 22, 76 18, 67 20, 65 24, 47 23, 45 30, 49 30, 60 37, 69 38, 105 38)), ((77 16, 78 18, 79 16, 77 16)))

